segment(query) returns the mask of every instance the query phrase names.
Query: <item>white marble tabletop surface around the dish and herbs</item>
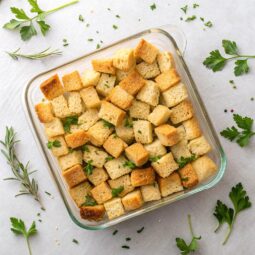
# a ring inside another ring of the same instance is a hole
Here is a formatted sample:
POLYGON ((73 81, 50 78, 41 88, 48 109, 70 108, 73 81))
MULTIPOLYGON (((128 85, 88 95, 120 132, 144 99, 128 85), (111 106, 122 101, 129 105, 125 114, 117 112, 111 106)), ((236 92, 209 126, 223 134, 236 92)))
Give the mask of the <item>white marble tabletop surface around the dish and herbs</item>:
MULTIPOLYGON (((42 8, 48 9, 64 1, 39 2, 42 8)), ((94 50, 100 40, 108 44, 136 31, 167 23, 180 26, 187 36, 185 60, 198 84, 217 132, 232 124, 232 116, 224 113, 225 108, 233 108, 242 115, 255 117, 255 102, 250 101, 250 98, 255 96, 254 61, 250 62, 250 73, 240 78, 233 75, 233 63, 219 73, 212 73, 202 65, 207 54, 218 48, 221 40, 225 38, 237 41, 243 52, 255 53, 255 1, 197 1, 200 8, 191 8, 189 15, 196 14, 211 20, 214 26, 206 31, 203 31, 200 20, 191 23, 180 21, 183 16, 180 7, 186 3, 191 5, 192 1, 155 0, 157 9, 151 11, 149 6, 153 2, 80 1, 79 4, 48 17, 47 21, 52 25, 50 33, 46 37, 39 35, 29 42, 22 42, 18 33, 0 29, 0 137, 3 138, 6 125, 13 126, 18 132, 22 141, 18 147, 19 154, 24 161, 31 160, 31 166, 38 169, 35 177, 39 180, 47 209, 41 212, 42 223, 37 221, 39 234, 31 238, 33 254, 179 254, 175 237, 190 238, 186 220, 188 213, 192 215, 195 232, 202 235, 198 254, 254 254, 254 208, 243 212, 237 219, 234 232, 226 246, 221 245, 224 231, 217 235, 213 233, 216 225, 213 209, 217 199, 230 204, 228 192, 239 181, 244 184, 251 201, 255 203, 255 139, 249 147, 241 149, 220 138, 228 157, 228 167, 223 180, 215 188, 116 227, 95 232, 83 230, 72 222, 32 138, 21 105, 22 90, 31 77, 94 50), (111 8, 111 11, 107 8, 111 8), (90 23, 90 27, 85 27, 85 24, 78 20, 79 14, 90 23), (121 19, 117 19, 116 14, 119 14, 121 19), (114 30, 113 24, 118 25, 119 29, 114 30), (96 34, 96 30, 99 34, 96 34), (67 38, 69 42, 66 48, 62 47, 63 38, 67 38), (88 38, 94 38, 94 42, 88 42, 88 38), (46 46, 63 49, 63 56, 33 62, 14 61, 4 53, 18 47, 32 52, 46 46), (228 83, 231 79, 235 80, 237 90, 233 90, 228 83), (45 190, 51 192, 54 199, 45 195, 45 190), (145 230, 138 235, 136 230, 142 226, 145 226, 145 230), (115 229, 119 232, 112 236, 115 229), (130 250, 121 248, 126 237, 132 238, 129 243, 130 250), (79 245, 72 243, 73 238, 79 240, 79 245), (60 245, 57 245, 55 240, 58 240, 60 245)), ((9 7, 12 5, 28 9, 26 1, 1 1, 1 27, 11 18, 9 7)), ((10 231, 9 217, 20 217, 30 224, 32 220, 38 220, 36 214, 40 209, 30 197, 14 198, 19 187, 15 183, 2 180, 10 174, 2 156, 0 166, 0 254, 27 254, 24 240, 10 231)))

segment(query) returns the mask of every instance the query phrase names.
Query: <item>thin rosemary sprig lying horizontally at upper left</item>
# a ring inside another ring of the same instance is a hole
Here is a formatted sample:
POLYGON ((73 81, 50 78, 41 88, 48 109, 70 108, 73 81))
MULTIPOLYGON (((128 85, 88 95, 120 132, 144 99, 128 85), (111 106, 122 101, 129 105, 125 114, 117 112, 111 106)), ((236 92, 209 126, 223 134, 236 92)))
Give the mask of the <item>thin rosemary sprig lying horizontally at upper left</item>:
POLYGON ((10 52, 10 51, 6 51, 6 53, 12 57, 14 60, 18 60, 19 57, 20 58, 28 58, 28 59, 32 59, 32 60, 37 60, 37 59, 42 59, 42 58, 47 58, 47 57, 51 57, 51 56, 58 56, 62 54, 62 51, 55 49, 55 50, 51 50, 50 48, 47 48, 43 51, 40 51, 38 53, 34 53, 34 54, 24 54, 24 53, 20 53, 19 52, 20 48, 18 48, 17 50, 10 52))

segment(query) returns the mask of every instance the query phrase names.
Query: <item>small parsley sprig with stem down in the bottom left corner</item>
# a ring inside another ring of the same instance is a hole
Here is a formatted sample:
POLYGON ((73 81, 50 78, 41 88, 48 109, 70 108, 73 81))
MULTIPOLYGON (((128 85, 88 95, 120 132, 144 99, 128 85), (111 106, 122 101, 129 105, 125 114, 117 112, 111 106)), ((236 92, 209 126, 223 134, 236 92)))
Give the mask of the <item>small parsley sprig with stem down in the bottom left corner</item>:
POLYGON ((30 236, 35 235, 37 233, 35 222, 33 221, 32 225, 27 230, 23 220, 11 217, 10 221, 11 221, 11 231, 15 233, 16 235, 23 235, 27 243, 29 254, 32 255, 29 238, 30 236))

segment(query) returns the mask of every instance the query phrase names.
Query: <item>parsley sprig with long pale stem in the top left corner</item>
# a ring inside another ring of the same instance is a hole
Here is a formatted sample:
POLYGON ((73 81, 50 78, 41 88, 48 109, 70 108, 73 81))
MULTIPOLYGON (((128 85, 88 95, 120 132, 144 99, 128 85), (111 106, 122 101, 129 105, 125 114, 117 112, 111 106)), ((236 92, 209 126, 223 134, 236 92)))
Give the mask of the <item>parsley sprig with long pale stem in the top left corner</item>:
POLYGON ((23 41, 27 41, 31 39, 31 37, 37 35, 37 30, 35 28, 34 21, 39 25, 41 33, 45 36, 46 33, 50 29, 50 25, 45 22, 45 18, 60 9, 63 9, 69 5, 77 3, 79 0, 74 0, 72 2, 66 3, 54 9, 43 11, 38 3, 37 0, 28 0, 29 4, 31 5, 31 13, 36 13, 36 16, 30 17, 28 14, 23 10, 17 7, 11 7, 11 12, 15 15, 16 19, 11 19, 8 23, 6 23, 3 28, 9 30, 18 30, 20 31, 20 36, 23 41))

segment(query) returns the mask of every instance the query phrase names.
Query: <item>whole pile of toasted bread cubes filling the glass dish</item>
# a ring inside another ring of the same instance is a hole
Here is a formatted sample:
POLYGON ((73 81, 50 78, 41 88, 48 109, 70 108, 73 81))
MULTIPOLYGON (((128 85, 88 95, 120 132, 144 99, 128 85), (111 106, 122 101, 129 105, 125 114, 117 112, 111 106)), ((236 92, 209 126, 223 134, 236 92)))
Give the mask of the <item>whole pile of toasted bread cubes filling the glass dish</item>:
POLYGON ((142 39, 92 66, 44 81, 45 98, 35 106, 47 139, 59 143, 51 151, 82 218, 111 220, 215 174, 171 53, 142 39), (70 116, 78 121, 66 131, 70 116))

